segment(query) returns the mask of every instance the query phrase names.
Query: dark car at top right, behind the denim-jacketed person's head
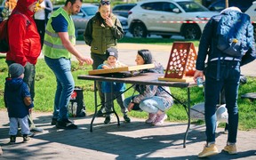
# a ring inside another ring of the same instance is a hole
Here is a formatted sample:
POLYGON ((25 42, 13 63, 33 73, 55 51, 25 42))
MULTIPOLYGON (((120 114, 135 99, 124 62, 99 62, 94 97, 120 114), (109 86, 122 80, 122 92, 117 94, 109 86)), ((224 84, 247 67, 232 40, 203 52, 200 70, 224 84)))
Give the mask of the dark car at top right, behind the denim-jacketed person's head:
MULTIPOLYGON (((236 6, 238 7, 242 12, 245 12, 251 5, 252 2, 255 0, 228 0, 228 7, 230 6, 236 6)), ((226 8, 226 0, 219 0, 216 1, 208 6, 208 9, 213 12, 220 12, 226 8)))

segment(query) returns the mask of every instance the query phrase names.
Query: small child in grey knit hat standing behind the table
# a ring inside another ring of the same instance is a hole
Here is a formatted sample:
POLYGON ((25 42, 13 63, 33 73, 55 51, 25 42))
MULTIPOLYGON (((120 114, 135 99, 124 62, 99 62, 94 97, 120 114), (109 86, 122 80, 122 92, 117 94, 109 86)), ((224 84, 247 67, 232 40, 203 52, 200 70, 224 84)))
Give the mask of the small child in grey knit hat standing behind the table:
MULTIPOLYGON (((107 52, 108 59, 101 64, 98 69, 108 69, 108 68, 121 68, 126 67, 126 65, 122 64, 120 61, 118 61, 118 54, 116 48, 110 47, 108 48, 107 52)), ((106 112, 111 112, 112 108, 114 107, 114 100, 111 100, 112 98, 116 97, 116 101, 118 105, 121 108, 122 113, 124 114, 124 121, 126 123, 130 123, 131 119, 127 115, 127 108, 124 107, 123 101, 124 101, 124 94, 121 94, 125 90, 124 83, 110 83, 110 82, 102 82, 101 84, 102 92, 105 95, 105 110, 106 112), (113 91, 111 89, 111 86, 113 86, 113 91)), ((110 114, 107 114, 104 124, 110 123, 110 114)))

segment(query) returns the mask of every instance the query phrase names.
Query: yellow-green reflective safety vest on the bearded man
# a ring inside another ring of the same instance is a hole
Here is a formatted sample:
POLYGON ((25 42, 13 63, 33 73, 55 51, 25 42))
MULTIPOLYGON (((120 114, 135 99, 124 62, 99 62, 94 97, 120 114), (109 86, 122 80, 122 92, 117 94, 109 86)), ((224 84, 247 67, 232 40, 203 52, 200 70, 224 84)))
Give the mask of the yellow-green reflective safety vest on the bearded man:
POLYGON ((61 57, 70 59, 71 53, 64 47, 60 36, 52 28, 52 18, 57 17, 60 14, 68 21, 68 38, 71 44, 76 44, 74 22, 71 16, 68 15, 68 12, 60 7, 56 12, 52 13, 50 20, 48 20, 44 35, 43 52, 46 57, 51 59, 60 59, 61 57))

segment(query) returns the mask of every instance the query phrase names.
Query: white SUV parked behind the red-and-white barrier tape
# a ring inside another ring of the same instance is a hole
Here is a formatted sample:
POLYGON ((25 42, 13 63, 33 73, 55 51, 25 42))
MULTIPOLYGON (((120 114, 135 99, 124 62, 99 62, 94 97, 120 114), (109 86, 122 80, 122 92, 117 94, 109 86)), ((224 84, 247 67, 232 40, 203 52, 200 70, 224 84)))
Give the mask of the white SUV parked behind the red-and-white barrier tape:
POLYGON ((218 12, 210 12, 193 0, 147 0, 138 2, 129 13, 129 31, 134 37, 199 39, 207 20, 218 12))

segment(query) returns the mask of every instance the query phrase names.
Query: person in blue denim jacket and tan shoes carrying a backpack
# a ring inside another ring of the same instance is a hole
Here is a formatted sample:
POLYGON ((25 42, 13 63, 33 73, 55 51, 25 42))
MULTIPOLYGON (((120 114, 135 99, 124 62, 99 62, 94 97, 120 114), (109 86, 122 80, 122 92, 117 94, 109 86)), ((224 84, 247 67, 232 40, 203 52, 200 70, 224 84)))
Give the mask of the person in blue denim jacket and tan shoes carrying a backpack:
POLYGON ((240 67, 255 59, 253 27, 247 14, 237 7, 229 7, 207 22, 200 39, 194 75, 195 82, 198 77, 205 76, 206 144, 199 157, 219 153, 215 144, 216 105, 222 88, 228 108, 228 140, 223 150, 231 155, 237 154, 240 67), (206 57, 207 65, 204 62, 206 57))

